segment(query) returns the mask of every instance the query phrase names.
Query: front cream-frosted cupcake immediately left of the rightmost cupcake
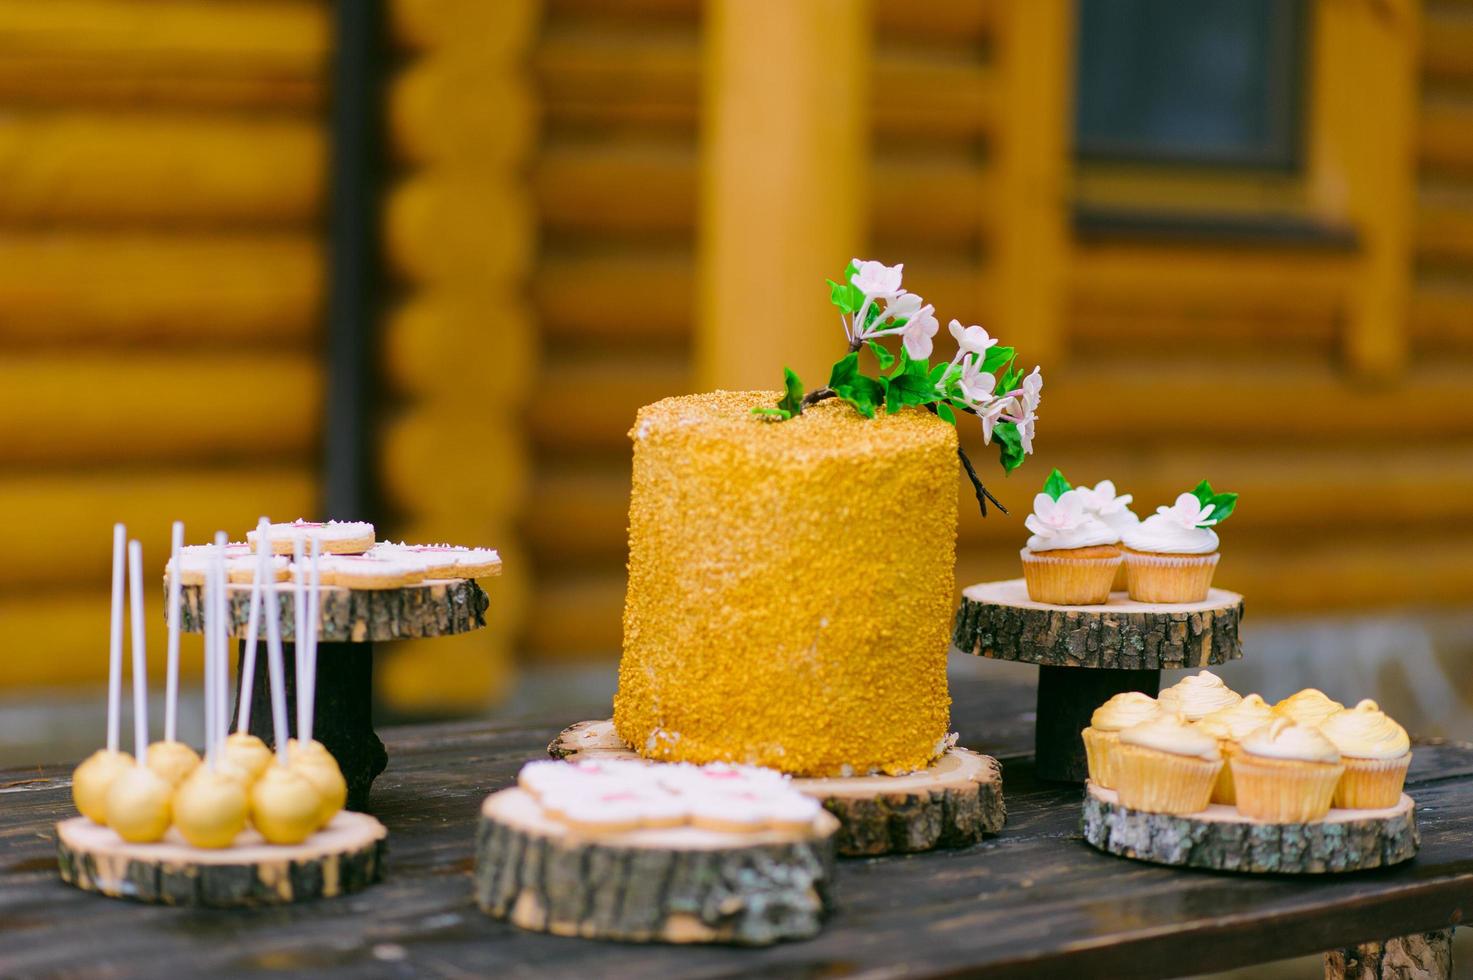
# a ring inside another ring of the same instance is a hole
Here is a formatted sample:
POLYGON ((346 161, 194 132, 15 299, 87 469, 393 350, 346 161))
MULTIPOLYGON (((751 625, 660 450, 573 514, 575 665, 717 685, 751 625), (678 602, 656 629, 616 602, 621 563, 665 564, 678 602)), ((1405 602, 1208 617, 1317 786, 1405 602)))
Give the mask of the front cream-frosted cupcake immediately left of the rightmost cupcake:
POLYGON ((1318 728, 1276 718, 1245 735, 1237 749, 1228 765, 1239 813, 1304 824, 1330 812, 1345 765, 1318 728))

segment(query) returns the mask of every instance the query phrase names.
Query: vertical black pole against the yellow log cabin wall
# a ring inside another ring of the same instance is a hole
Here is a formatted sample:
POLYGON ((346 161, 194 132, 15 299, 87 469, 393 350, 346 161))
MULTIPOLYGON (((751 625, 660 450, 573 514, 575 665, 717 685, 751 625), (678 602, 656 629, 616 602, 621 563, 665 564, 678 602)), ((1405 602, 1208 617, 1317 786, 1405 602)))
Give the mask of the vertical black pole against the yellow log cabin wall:
POLYGON ((362 520, 371 505, 383 9, 380 0, 333 9, 323 504, 328 517, 362 520))

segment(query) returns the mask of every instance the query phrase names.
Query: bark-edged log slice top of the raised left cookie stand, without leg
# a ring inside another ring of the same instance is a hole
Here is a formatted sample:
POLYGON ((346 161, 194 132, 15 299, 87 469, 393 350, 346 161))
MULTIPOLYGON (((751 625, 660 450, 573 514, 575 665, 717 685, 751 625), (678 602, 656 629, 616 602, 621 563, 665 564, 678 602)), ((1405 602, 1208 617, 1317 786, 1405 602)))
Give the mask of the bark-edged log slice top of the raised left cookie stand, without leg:
MULTIPOLYGON (((281 582, 280 585, 287 585, 281 582)), ((423 637, 452 637, 486 625, 491 600, 474 579, 436 579, 420 585, 384 589, 348 589, 336 585, 321 588, 318 640, 323 643, 377 643, 380 640, 414 640, 423 637)), ((281 640, 296 640, 296 616, 292 591, 277 592, 281 619, 281 640)), ((230 587, 230 616, 233 635, 246 635, 250 615, 250 587, 230 587)), ((180 628, 202 632, 200 587, 180 588, 180 628)), ((262 637, 265 629, 262 628, 262 637)))

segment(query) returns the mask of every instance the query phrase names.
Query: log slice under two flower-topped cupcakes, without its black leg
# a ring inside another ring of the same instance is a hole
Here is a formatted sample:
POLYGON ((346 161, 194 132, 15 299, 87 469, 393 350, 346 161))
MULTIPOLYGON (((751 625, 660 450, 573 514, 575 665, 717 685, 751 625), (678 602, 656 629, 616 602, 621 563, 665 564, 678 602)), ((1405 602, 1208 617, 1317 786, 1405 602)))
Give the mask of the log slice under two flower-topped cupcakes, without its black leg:
POLYGON ((1200 603, 1136 603, 1115 592, 1103 606, 1050 606, 1009 579, 962 591, 952 643, 974 656, 1043 666, 1205 668, 1243 656, 1242 617, 1243 597, 1218 588, 1200 603))

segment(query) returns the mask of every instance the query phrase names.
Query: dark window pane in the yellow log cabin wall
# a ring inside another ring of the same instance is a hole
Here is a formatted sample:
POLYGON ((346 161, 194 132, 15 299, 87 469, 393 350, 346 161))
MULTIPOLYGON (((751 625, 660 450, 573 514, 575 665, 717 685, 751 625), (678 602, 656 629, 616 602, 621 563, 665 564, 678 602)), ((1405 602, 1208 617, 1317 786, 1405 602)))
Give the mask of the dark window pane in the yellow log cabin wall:
POLYGON ((1078 0, 1086 161, 1298 169, 1304 0, 1078 0))

